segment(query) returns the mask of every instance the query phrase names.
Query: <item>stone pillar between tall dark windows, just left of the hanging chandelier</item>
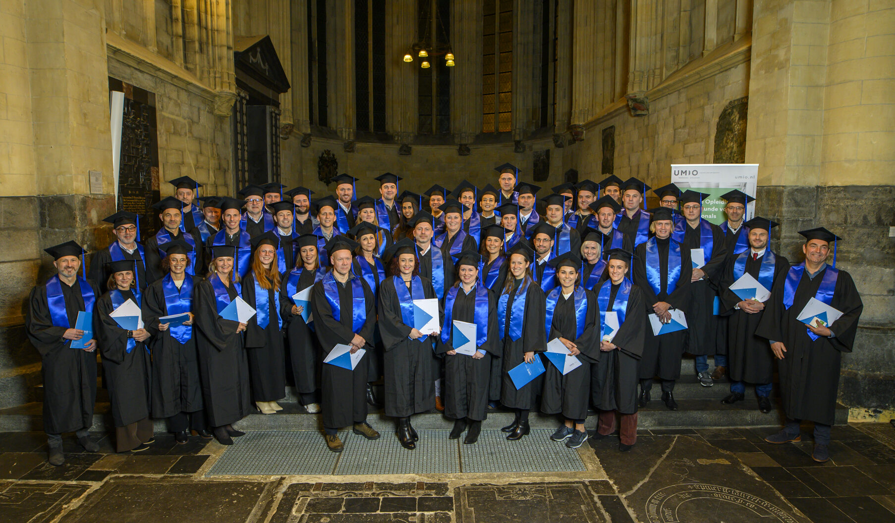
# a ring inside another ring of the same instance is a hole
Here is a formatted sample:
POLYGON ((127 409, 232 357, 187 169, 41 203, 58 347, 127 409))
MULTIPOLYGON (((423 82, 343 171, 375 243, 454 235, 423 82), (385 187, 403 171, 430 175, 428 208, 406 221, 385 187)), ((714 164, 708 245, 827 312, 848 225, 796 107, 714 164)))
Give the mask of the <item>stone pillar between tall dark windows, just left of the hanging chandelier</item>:
POLYGON ((413 62, 405 63, 404 55, 412 53, 410 46, 416 38, 415 0, 388 2, 386 28, 386 131, 398 143, 410 143, 419 120, 416 72, 420 58, 414 54, 413 62))

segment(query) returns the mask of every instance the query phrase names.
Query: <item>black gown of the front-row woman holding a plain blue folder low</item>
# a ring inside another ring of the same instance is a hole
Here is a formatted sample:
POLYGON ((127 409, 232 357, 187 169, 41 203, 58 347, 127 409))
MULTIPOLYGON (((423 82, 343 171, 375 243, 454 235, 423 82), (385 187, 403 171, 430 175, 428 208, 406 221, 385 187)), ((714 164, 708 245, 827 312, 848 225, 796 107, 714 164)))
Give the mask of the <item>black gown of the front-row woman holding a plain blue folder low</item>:
MULTIPOLYGON (((512 276, 508 276, 512 277, 512 276)), ((531 282, 525 289, 525 310, 523 314, 522 335, 515 342, 509 335, 509 324, 513 310, 513 303, 516 300, 516 290, 521 280, 516 280, 513 290, 510 291, 507 299, 507 317, 503 328, 503 372, 500 375, 500 402, 510 409, 532 409, 534 407, 534 398, 538 392, 541 392, 541 379, 533 379, 525 384, 522 389, 516 390, 516 385, 509 377, 509 371, 524 362, 525 352, 534 352, 536 358, 540 358, 538 352, 547 350, 547 336, 544 333, 544 322, 546 320, 545 310, 546 304, 544 291, 537 283, 531 282)))

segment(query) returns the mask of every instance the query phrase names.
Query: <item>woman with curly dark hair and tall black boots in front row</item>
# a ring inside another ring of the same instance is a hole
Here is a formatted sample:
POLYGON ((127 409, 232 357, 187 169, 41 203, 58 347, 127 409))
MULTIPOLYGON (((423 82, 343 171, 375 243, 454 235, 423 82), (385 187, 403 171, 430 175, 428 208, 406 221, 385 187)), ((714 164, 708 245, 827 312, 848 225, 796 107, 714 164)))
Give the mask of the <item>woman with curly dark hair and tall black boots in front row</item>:
MULTIPOLYGON (((435 407, 431 359, 437 333, 422 333, 413 326, 413 301, 436 299, 435 290, 429 278, 420 276, 414 248, 405 238, 386 250, 390 275, 379 287, 386 416, 396 418, 397 439, 408 450, 419 440, 410 417, 435 407)), ((441 325, 441 318, 436 319, 441 325)))

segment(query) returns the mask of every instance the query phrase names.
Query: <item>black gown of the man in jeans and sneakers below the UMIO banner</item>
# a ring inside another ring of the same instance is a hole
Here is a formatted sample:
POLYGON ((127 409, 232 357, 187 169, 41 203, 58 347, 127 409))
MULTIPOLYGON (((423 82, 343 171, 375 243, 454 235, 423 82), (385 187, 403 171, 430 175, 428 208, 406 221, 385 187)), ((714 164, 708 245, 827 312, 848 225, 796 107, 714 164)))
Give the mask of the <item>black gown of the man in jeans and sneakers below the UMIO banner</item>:
MULTIPOLYGON (((711 225, 712 258, 705 260, 705 266, 702 267, 705 277, 690 283, 690 303, 686 308, 686 325, 690 335, 687 337, 685 352, 694 356, 727 354, 727 340, 720 339, 724 336, 724 330, 720 327, 718 316, 713 314, 718 286, 724 274, 727 246, 721 228, 715 224, 711 225)), ((680 242, 682 252, 700 249, 700 229, 701 227, 693 228, 689 224, 684 224, 684 240, 680 242)), ((693 266, 692 262, 690 266, 693 266)))

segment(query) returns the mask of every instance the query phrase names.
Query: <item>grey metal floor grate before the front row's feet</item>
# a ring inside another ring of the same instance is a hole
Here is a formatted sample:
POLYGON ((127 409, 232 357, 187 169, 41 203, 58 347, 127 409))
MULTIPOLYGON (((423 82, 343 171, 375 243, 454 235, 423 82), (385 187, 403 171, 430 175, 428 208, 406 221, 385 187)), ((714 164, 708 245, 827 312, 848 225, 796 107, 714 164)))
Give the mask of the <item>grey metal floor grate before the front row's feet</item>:
POLYGON ((345 451, 327 449, 320 432, 252 431, 236 438, 208 476, 451 474, 458 472, 584 471, 577 451, 549 439, 551 429, 533 429, 517 442, 499 430, 482 431, 473 445, 447 439, 447 430, 420 431, 414 451, 398 443, 391 427, 378 440, 341 431, 345 451))

